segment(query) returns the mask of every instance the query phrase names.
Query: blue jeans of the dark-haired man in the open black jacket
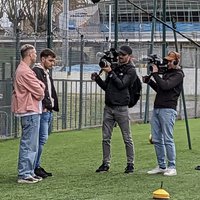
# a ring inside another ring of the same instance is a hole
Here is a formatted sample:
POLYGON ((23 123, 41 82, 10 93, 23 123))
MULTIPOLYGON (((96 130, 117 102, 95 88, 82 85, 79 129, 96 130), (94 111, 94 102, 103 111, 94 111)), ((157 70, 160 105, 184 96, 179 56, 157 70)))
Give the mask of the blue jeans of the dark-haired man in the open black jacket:
POLYGON ((35 168, 40 167, 43 147, 44 147, 44 144, 48 140, 48 136, 49 136, 50 131, 51 131, 52 120, 53 120, 53 113, 52 112, 43 112, 41 114, 38 155, 37 155, 37 159, 36 159, 35 168))

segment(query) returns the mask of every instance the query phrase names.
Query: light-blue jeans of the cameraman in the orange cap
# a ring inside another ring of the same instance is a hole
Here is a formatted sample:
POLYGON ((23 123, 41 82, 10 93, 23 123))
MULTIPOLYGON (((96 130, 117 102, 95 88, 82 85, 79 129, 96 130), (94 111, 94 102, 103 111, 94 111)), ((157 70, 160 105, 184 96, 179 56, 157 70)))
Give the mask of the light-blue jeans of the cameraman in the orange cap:
POLYGON ((151 119, 152 140, 160 168, 176 168, 174 124, 177 112, 170 108, 156 108, 151 119), (166 163, 166 158, 168 163, 166 163))

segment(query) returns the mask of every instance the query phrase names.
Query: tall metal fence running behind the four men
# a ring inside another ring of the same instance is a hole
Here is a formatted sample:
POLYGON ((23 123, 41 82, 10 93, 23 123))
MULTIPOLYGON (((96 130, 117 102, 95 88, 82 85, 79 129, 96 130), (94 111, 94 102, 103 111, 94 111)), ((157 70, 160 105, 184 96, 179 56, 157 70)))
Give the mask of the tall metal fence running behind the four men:
MULTIPOLYGON (((39 54, 46 48, 46 41, 21 40, 20 46, 30 43, 36 46, 39 54)), ((119 46, 125 44, 119 42, 119 46)), ((146 75, 147 64, 143 57, 148 55, 150 43, 128 43, 133 48, 138 75, 146 75)), ((168 50, 174 50, 174 44, 168 43, 168 50)), ((53 42, 52 49, 57 54, 57 65, 52 71, 59 97, 60 111, 54 113, 53 131, 66 131, 101 126, 104 108, 104 92, 90 80, 92 72, 100 70, 96 54, 108 49, 109 44, 87 40, 69 43, 69 65, 62 65, 62 43, 53 42)), ((177 107, 179 118, 200 117, 200 50, 187 42, 179 42, 182 66, 185 72, 184 98, 180 97, 177 107), (186 104, 186 112, 183 108, 186 104), (187 114, 187 115, 185 115, 187 114)), ((154 44, 154 53, 160 55, 162 43, 154 44)), ((16 69, 16 45, 12 41, 0 42, 0 138, 20 136, 19 120, 11 113, 12 80, 16 69)), ((39 57, 39 56, 38 56, 39 57)), ((39 60, 38 60, 39 62, 39 60)), ((103 75, 104 76, 104 75, 103 75)), ((144 121, 151 117, 155 93, 150 89, 147 95, 143 84, 142 97, 138 104, 130 109, 131 120, 144 121), (148 101, 147 101, 148 100, 148 101), (146 103, 148 102, 148 106, 146 103)))

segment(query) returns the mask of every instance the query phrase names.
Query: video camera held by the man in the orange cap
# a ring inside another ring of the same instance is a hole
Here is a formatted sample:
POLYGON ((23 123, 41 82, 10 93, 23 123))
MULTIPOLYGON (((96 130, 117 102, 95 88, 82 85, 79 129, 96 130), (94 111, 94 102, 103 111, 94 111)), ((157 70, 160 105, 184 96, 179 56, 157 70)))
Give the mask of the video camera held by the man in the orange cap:
POLYGON ((168 60, 158 57, 157 54, 150 54, 147 58, 143 58, 143 61, 148 62, 150 72, 153 71, 152 64, 158 67, 159 74, 163 74, 167 71, 168 60))

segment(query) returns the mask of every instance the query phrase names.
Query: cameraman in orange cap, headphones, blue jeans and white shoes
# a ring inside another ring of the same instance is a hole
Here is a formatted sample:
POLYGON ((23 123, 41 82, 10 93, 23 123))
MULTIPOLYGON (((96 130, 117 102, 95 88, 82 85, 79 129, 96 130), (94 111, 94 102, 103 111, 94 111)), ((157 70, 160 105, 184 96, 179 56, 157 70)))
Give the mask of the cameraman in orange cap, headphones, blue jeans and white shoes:
POLYGON ((143 82, 150 85, 156 92, 151 118, 151 133, 158 166, 147 173, 175 176, 177 171, 173 129, 177 116, 177 102, 183 88, 184 73, 179 66, 179 53, 171 51, 164 59, 168 61, 168 64, 162 76, 159 75, 158 66, 153 65, 152 74, 143 77, 143 82))

